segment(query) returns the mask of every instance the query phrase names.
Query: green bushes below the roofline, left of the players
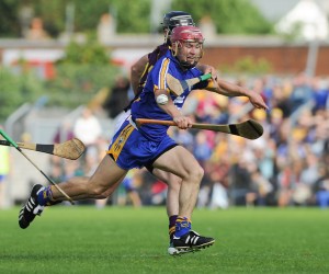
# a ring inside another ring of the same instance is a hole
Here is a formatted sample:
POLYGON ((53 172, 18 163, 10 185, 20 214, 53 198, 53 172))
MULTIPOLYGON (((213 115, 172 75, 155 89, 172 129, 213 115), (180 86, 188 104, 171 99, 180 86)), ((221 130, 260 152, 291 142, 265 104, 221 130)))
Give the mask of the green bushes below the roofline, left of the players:
POLYGON ((54 64, 55 76, 43 79, 24 60, 10 68, 0 67, 0 122, 25 102, 44 98, 46 105, 73 109, 90 102, 120 73, 109 61, 109 53, 97 43, 71 43, 65 58, 54 64))

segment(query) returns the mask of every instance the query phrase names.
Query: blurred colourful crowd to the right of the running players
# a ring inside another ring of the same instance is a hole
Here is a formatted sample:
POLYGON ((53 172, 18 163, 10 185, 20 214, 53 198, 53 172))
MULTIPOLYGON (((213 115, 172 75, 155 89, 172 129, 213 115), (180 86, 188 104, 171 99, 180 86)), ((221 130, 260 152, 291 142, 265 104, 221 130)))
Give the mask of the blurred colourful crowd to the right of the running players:
POLYGON ((262 94, 268 113, 246 99, 203 91, 185 112, 198 123, 231 124, 253 118, 264 127, 257 140, 207 130, 177 130, 205 169, 198 206, 329 206, 329 79, 294 77, 239 79, 262 94))

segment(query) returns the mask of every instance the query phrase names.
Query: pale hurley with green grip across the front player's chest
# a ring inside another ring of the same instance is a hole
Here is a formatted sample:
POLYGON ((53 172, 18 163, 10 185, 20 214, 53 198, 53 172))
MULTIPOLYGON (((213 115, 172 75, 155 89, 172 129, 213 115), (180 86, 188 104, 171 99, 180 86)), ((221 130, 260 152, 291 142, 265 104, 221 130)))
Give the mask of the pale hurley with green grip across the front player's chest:
POLYGON ((203 76, 191 78, 191 79, 179 80, 179 79, 175 79, 173 76, 167 73, 167 84, 168 84, 168 88, 177 96, 179 96, 184 92, 184 90, 186 90, 186 89, 190 90, 192 88, 192 85, 194 85, 195 83, 208 80, 211 78, 212 78, 212 75, 207 73, 207 75, 203 75, 203 76))

